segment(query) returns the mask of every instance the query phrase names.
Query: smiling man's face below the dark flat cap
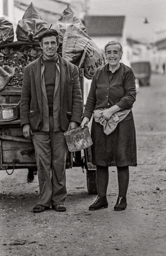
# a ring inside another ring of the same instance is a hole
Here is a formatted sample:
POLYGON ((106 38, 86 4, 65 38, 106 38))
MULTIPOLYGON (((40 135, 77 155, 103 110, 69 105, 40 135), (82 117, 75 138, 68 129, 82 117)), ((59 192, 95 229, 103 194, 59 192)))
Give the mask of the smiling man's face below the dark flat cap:
POLYGON ((52 59, 56 56, 59 43, 57 45, 55 36, 50 36, 50 37, 44 37, 42 40, 42 44, 40 43, 40 46, 41 46, 41 49, 43 50, 44 58, 52 59))

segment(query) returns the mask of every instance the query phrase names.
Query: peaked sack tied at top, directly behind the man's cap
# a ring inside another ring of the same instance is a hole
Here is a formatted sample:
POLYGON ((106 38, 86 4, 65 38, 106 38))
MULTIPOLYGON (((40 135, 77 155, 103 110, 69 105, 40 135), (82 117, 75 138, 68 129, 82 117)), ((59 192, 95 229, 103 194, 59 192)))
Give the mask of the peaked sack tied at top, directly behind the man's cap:
POLYGON ((22 20, 18 21, 16 37, 18 41, 38 42, 38 35, 48 29, 48 24, 41 19, 36 7, 31 3, 22 20))

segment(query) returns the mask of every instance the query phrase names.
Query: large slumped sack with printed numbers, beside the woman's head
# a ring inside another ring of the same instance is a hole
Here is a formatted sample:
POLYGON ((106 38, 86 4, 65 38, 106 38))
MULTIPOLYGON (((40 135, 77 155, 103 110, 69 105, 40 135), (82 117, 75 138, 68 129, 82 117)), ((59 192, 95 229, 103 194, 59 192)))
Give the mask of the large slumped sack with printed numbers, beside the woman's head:
POLYGON ((105 64, 103 52, 85 32, 74 25, 67 27, 62 46, 62 57, 70 62, 80 58, 86 50, 83 68, 87 79, 92 79, 96 69, 105 64))

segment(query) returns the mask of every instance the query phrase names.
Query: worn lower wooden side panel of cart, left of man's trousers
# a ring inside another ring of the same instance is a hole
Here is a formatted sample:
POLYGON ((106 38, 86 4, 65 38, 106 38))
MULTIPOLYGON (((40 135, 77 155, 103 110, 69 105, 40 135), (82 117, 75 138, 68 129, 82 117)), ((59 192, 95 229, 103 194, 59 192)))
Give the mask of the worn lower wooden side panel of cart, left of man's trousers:
POLYGON ((0 169, 12 169, 14 162, 15 168, 36 167, 34 144, 24 138, 20 121, 1 123, 3 125, 0 125, 0 169))

